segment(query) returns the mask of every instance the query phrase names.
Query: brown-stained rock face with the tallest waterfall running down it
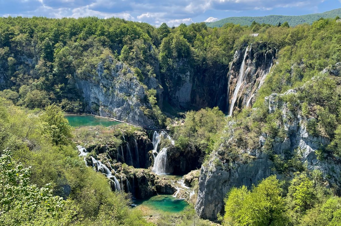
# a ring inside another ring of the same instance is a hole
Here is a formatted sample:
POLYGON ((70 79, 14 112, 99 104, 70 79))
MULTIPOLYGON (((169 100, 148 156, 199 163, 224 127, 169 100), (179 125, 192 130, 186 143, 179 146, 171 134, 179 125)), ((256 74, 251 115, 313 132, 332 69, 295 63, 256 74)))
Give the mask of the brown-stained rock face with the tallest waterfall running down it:
POLYGON ((270 72, 276 52, 265 43, 250 44, 235 52, 228 72, 226 113, 231 115, 235 108, 251 106, 270 72))

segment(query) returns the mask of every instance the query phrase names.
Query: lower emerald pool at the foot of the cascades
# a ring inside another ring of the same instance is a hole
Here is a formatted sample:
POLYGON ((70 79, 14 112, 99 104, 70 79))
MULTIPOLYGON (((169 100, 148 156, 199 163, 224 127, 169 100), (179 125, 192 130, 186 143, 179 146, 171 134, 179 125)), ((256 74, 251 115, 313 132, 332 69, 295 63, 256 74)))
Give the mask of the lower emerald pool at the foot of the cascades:
POLYGON ((148 199, 134 200, 134 203, 165 212, 180 212, 188 207, 188 203, 185 200, 177 199, 173 195, 155 195, 148 199))

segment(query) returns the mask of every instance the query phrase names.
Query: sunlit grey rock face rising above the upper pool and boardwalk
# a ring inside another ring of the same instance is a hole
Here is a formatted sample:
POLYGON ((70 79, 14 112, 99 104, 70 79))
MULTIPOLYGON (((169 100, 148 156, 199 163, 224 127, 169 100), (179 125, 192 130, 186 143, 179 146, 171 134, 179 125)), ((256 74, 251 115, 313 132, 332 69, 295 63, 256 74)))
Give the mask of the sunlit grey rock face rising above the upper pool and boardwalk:
POLYGON ((75 78, 77 88, 84 94, 87 111, 158 128, 145 88, 130 68, 108 57, 98 64, 96 72, 90 79, 75 78))

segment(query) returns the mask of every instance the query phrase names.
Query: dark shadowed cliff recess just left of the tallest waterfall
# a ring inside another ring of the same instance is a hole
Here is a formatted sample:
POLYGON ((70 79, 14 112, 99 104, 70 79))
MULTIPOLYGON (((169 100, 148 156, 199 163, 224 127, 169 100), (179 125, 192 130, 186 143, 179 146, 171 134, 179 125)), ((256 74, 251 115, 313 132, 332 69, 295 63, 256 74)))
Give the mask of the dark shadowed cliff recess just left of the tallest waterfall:
POLYGON ((227 66, 193 67, 188 60, 177 62, 176 69, 165 72, 162 86, 167 101, 182 109, 225 108, 227 66))

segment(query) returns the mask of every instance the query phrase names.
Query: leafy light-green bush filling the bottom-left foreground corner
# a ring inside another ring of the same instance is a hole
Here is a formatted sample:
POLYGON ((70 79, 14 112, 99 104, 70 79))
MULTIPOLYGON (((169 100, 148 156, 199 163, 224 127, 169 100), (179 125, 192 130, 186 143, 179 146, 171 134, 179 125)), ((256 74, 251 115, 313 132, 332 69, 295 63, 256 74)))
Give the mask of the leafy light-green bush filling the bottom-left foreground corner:
POLYGON ((30 167, 16 165, 9 151, 0 157, 0 222, 2 225, 70 225, 77 222, 72 201, 53 196, 50 184, 30 184, 30 167), (70 211, 71 210, 71 211, 70 211))

